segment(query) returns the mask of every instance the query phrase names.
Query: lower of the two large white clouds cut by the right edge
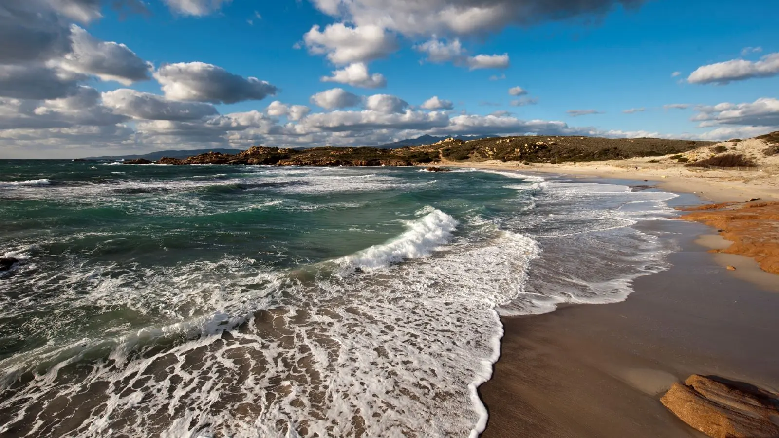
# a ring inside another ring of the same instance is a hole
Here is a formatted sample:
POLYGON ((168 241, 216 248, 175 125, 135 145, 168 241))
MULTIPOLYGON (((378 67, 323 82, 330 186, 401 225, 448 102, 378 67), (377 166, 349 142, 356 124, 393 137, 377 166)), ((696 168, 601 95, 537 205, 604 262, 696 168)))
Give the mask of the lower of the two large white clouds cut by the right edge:
POLYGON ((696 107, 699 114, 693 120, 701 127, 714 125, 779 126, 779 100, 761 97, 752 103, 721 103, 696 107))

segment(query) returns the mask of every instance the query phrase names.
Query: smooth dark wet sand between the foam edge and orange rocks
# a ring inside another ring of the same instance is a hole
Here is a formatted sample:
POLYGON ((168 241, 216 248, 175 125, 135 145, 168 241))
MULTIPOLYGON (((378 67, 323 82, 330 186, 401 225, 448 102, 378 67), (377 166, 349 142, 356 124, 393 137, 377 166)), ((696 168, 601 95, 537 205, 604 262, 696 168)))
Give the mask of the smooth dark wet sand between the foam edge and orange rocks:
POLYGON ((701 437, 659 401, 675 380, 714 374, 779 390, 779 277, 736 277, 695 242, 711 228, 658 222, 681 234, 681 250, 625 302, 503 318, 501 358, 479 388, 483 437, 701 437))

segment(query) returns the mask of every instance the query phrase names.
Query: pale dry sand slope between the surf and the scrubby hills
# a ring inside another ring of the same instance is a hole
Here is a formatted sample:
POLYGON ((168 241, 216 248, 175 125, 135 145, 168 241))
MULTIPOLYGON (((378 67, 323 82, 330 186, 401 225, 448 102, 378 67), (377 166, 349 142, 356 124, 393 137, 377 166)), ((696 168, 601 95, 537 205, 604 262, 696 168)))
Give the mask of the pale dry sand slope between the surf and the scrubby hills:
MULTIPOLYGON (((760 167, 749 171, 686 168, 684 164, 671 160, 668 155, 564 164, 524 165, 514 161, 497 160, 461 163, 445 161, 442 164, 464 168, 506 168, 518 171, 657 181, 661 189, 695 193, 704 200, 717 202, 744 201, 751 198, 779 200, 779 154, 765 157, 763 150, 768 147, 767 143, 763 140, 749 139, 739 143, 717 143, 714 146, 718 145, 728 147, 728 153, 744 154, 753 158, 760 167), (650 160, 660 162, 650 163, 650 160)), ((681 155, 690 160, 705 158, 712 155, 711 148, 702 147, 681 155)))

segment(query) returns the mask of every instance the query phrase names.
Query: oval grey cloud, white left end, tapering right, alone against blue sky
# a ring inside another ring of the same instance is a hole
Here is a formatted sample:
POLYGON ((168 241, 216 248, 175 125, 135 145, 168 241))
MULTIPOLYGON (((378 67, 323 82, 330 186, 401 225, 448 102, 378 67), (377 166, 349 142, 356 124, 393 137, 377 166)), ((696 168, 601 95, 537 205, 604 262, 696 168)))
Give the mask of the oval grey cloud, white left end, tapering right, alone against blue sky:
POLYGON ((154 78, 165 97, 174 101, 234 104, 259 101, 277 93, 277 87, 255 77, 245 78, 205 62, 162 65, 154 78))

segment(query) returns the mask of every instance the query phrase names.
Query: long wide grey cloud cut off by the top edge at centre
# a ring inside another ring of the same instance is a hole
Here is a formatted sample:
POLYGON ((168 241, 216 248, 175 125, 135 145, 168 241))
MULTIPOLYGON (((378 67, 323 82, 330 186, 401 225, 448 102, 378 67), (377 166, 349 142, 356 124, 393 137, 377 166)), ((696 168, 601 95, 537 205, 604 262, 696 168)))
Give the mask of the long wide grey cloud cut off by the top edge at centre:
POLYGON ((311 0, 329 16, 379 25, 407 36, 499 32, 509 24, 531 25, 576 16, 602 16, 617 5, 643 0, 311 0))

